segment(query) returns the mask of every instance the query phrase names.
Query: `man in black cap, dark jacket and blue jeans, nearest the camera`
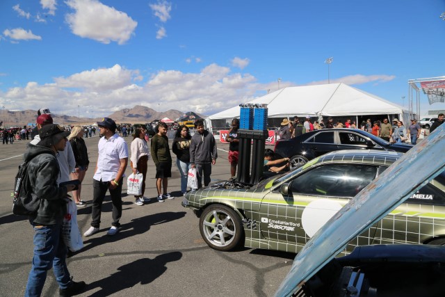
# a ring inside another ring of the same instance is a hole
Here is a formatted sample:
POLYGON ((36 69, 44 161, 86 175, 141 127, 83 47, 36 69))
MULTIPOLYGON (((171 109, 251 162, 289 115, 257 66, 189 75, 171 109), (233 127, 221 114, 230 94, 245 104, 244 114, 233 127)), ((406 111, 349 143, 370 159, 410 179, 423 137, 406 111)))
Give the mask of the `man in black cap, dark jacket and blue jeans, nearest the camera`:
POLYGON ((56 154, 65 150, 70 133, 54 124, 44 125, 39 131, 37 145, 29 143, 24 160, 29 161, 29 191, 39 198, 35 214, 29 216, 34 227, 34 256, 31 272, 26 284, 25 296, 40 296, 47 278, 47 271, 54 268, 60 296, 81 293, 85 282, 74 282, 67 264, 67 247, 62 239, 63 216, 66 213, 67 192, 74 185, 58 186, 60 175, 56 154))

